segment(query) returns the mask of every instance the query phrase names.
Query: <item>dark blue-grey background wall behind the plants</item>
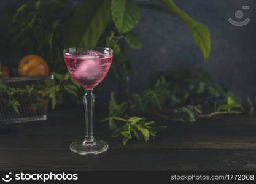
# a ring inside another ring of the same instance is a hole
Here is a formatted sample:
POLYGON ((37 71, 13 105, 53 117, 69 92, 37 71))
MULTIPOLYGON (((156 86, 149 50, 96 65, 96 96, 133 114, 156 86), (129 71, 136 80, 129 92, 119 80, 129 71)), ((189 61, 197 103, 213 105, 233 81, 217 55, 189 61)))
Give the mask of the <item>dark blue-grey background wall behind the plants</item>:
MULTIPOLYGON (((6 4, 20 1, 1 1, 6 4)), ((145 1, 148 3, 150 1, 145 1)), ((240 98, 254 99, 256 89, 256 1, 255 0, 179 0, 176 4, 195 20, 211 30, 212 52, 204 63, 203 56, 195 46, 187 26, 176 17, 155 10, 142 9, 141 20, 134 31, 141 37, 141 50, 128 50, 136 73, 131 77, 131 89, 141 90, 150 86, 159 72, 188 68, 203 68, 217 82, 222 82, 240 98), (236 27, 228 23, 242 6, 250 23, 236 27)), ((143 1, 139 1, 143 3, 143 1)), ((1 12, 0 12, 1 16, 1 12)), ((1 16, 0 31, 4 23, 1 16)), ((95 89, 98 102, 106 104, 109 92, 115 84, 105 80, 95 89)))

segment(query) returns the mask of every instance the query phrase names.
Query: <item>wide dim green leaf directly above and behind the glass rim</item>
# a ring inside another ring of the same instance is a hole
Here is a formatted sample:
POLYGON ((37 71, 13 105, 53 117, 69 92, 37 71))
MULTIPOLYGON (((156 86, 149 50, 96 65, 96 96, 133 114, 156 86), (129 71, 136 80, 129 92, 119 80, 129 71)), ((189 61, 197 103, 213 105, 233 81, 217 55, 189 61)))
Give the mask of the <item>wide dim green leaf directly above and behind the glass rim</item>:
POLYGON ((93 47, 106 29, 110 15, 110 0, 87 0, 80 4, 69 20, 68 47, 93 47))

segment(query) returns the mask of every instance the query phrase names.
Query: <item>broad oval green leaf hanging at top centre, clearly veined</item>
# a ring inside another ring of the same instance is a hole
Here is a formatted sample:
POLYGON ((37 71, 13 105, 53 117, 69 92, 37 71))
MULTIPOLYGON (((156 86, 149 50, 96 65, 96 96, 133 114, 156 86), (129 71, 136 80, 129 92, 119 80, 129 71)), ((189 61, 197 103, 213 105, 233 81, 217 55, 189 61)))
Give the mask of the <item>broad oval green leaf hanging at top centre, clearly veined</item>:
POLYGON ((112 0, 111 13, 121 34, 133 29, 139 21, 139 8, 134 0, 112 0))

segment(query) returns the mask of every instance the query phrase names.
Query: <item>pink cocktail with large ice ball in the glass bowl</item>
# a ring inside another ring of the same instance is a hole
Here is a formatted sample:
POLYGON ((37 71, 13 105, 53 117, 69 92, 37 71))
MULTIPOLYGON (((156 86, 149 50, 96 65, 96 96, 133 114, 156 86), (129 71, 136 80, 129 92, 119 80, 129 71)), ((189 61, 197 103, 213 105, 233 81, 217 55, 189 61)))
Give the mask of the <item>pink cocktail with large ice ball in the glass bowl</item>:
POLYGON ((101 83, 111 67, 112 59, 111 53, 104 55, 95 50, 76 53, 76 55, 64 54, 69 73, 85 90, 92 90, 101 83))

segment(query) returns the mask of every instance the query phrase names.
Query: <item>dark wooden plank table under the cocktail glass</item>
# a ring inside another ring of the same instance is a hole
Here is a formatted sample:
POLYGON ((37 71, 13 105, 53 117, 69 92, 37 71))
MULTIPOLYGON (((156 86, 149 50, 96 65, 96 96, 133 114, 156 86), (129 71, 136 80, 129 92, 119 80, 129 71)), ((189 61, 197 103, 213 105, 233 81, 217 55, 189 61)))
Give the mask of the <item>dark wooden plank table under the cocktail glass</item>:
MULTIPOLYGON (((95 137, 109 143, 101 155, 69 151, 84 136, 83 109, 55 110, 47 121, 1 125, 1 170, 255 170, 256 115, 204 118, 193 128, 186 123, 168 129, 149 142, 112 138, 106 112, 96 110, 95 137)), ((157 120, 161 121, 161 120, 157 120)))

